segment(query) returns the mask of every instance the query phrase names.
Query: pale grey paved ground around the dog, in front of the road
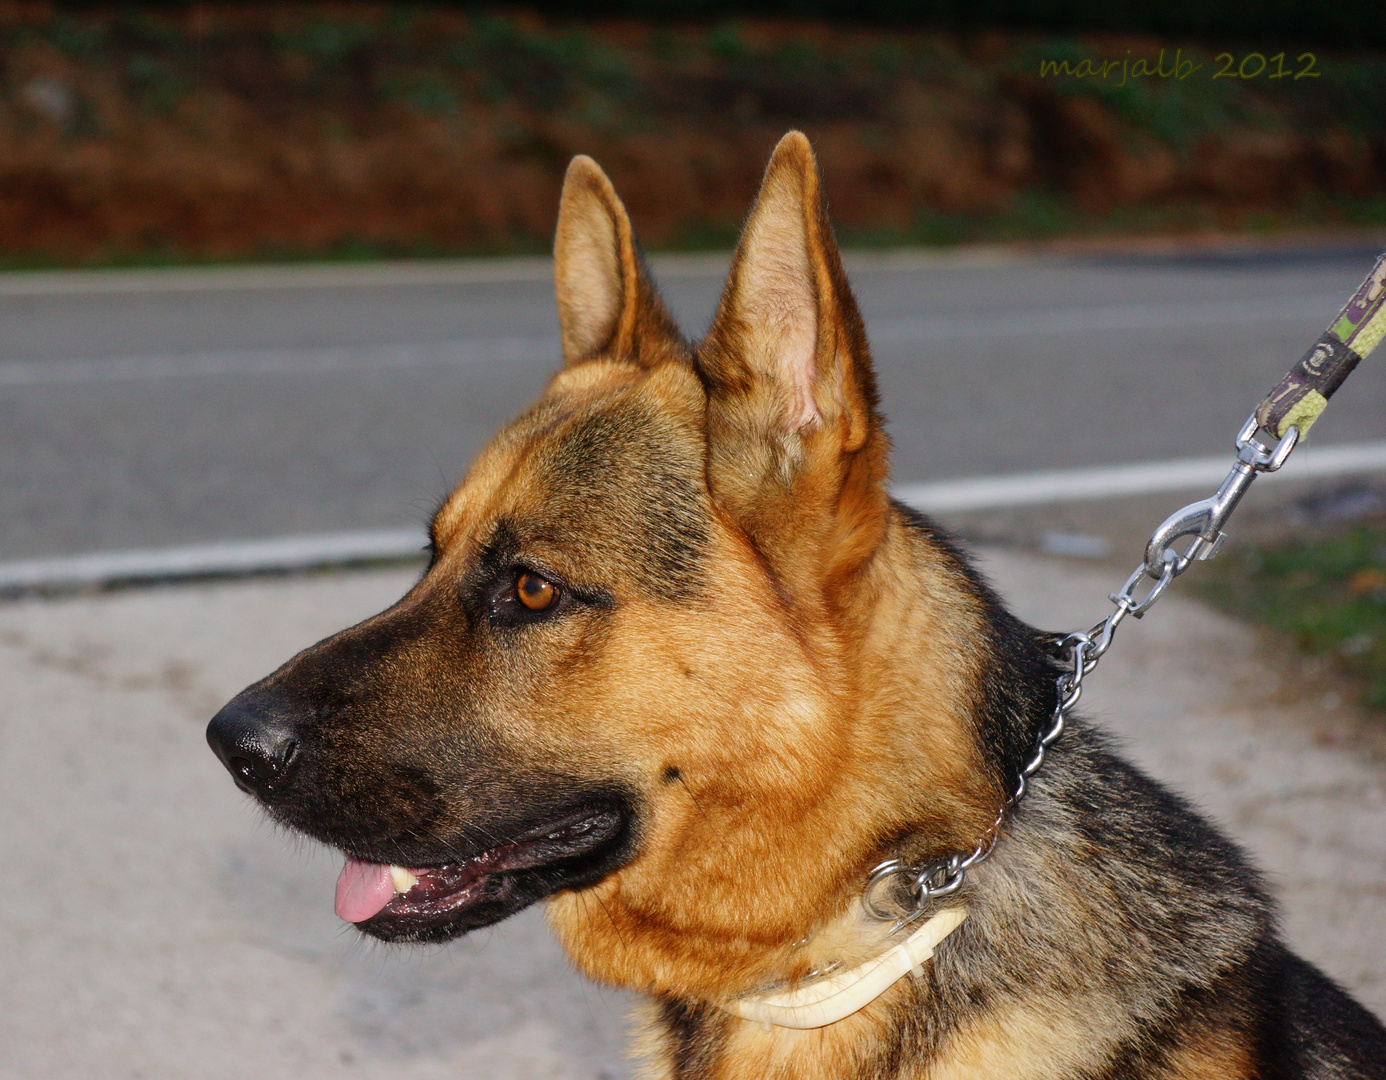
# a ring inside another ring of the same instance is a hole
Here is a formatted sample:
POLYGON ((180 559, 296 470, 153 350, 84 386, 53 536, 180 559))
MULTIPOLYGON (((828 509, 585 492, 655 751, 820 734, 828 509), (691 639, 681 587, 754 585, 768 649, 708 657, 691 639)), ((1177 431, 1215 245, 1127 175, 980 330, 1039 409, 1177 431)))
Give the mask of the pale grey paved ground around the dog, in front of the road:
MULTIPOLYGON (((1119 581, 1006 550, 1020 613, 1088 625, 1119 581)), ((529 911, 385 950, 331 912, 335 857, 269 826, 202 729, 406 571, 0 606, 7 1077, 618 1077, 626 1001, 529 911)), ((1178 595, 1123 627, 1085 704, 1254 853, 1293 944, 1386 1013, 1386 739, 1297 661, 1178 595)))

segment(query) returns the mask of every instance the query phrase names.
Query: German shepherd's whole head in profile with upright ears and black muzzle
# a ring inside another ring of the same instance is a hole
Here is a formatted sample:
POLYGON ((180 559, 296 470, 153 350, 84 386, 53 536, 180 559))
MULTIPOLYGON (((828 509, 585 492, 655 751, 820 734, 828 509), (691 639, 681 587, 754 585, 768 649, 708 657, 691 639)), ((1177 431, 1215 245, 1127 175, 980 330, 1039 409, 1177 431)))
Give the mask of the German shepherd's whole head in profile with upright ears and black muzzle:
POLYGON ((590 973, 718 993, 898 836, 951 850, 990 821, 981 616, 888 502, 801 134, 696 349, 586 158, 554 255, 565 366, 438 510, 427 573, 208 738, 349 857, 338 911, 363 932, 444 940, 552 897, 590 973))

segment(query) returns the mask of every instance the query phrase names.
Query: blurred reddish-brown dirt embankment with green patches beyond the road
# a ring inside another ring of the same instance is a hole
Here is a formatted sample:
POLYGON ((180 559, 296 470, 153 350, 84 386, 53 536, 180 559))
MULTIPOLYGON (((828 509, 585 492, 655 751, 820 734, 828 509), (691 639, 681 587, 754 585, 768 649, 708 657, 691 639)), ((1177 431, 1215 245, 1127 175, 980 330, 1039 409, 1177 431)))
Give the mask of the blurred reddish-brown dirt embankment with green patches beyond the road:
POLYGON ((858 243, 1386 223, 1386 57, 1283 51, 0 6, 0 259, 542 247, 575 153, 651 245, 719 244, 789 126, 858 243))

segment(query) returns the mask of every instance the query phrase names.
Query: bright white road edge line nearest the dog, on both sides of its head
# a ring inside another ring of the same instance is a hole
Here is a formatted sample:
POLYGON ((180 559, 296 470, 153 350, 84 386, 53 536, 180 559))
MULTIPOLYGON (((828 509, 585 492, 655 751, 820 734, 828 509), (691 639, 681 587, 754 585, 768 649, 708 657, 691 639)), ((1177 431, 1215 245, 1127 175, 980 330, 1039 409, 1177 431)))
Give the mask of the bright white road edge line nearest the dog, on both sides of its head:
MULTIPOLYGON (((926 513, 1109 499, 1211 488, 1227 476, 1231 463, 1232 455, 1227 453, 1179 462, 901 484, 894 495, 926 513)), ((1275 476, 1325 480, 1374 471, 1386 471, 1386 442, 1303 446, 1275 476)), ((0 596, 409 559, 420 555, 424 542, 421 530, 402 528, 0 561, 0 596)))

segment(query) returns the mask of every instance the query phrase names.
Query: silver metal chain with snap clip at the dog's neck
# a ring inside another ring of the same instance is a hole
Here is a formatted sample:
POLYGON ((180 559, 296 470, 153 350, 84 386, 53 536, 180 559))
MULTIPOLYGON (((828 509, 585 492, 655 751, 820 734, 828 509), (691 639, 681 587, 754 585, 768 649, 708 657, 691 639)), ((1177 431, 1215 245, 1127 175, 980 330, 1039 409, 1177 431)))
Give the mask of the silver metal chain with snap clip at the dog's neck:
POLYGON ((866 878, 866 889, 862 891, 862 908, 870 918, 894 922, 891 932, 898 930, 923 915, 934 900, 956 893, 967 871, 991 855, 1001 839, 1006 818, 1026 797, 1030 778, 1040 771, 1045 753, 1063 735, 1069 713, 1082 696, 1084 678, 1112 647, 1117 627, 1127 616, 1132 618, 1145 616, 1170 588, 1170 582, 1195 561, 1217 555, 1222 541, 1227 539, 1222 525, 1246 489, 1252 487, 1252 481, 1258 474, 1274 473, 1285 464, 1285 459, 1299 441, 1299 430, 1290 427, 1274 446, 1265 446, 1256 439, 1257 428, 1256 416, 1242 426, 1236 435, 1236 462, 1217 492, 1171 514, 1152 534, 1145 548, 1145 561, 1131 573, 1119 592, 1107 598, 1116 604, 1116 610, 1087 631, 1074 631, 1055 639, 1055 649, 1069 654, 1069 670, 1056 679, 1055 707, 1049 725, 1040 733, 1034 753, 1020 769, 1015 790, 997 811, 997 819, 983 833, 977 846, 970 854, 945 855, 922 866, 908 865, 898 858, 881 862, 866 878), (1179 552, 1174 543, 1184 537, 1193 539, 1179 552), (1137 589, 1142 578, 1150 578, 1155 584, 1138 599, 1137 589), (894 900, 901 894, 901 886, 911 898, 909 907, 905 908, 894 900))

